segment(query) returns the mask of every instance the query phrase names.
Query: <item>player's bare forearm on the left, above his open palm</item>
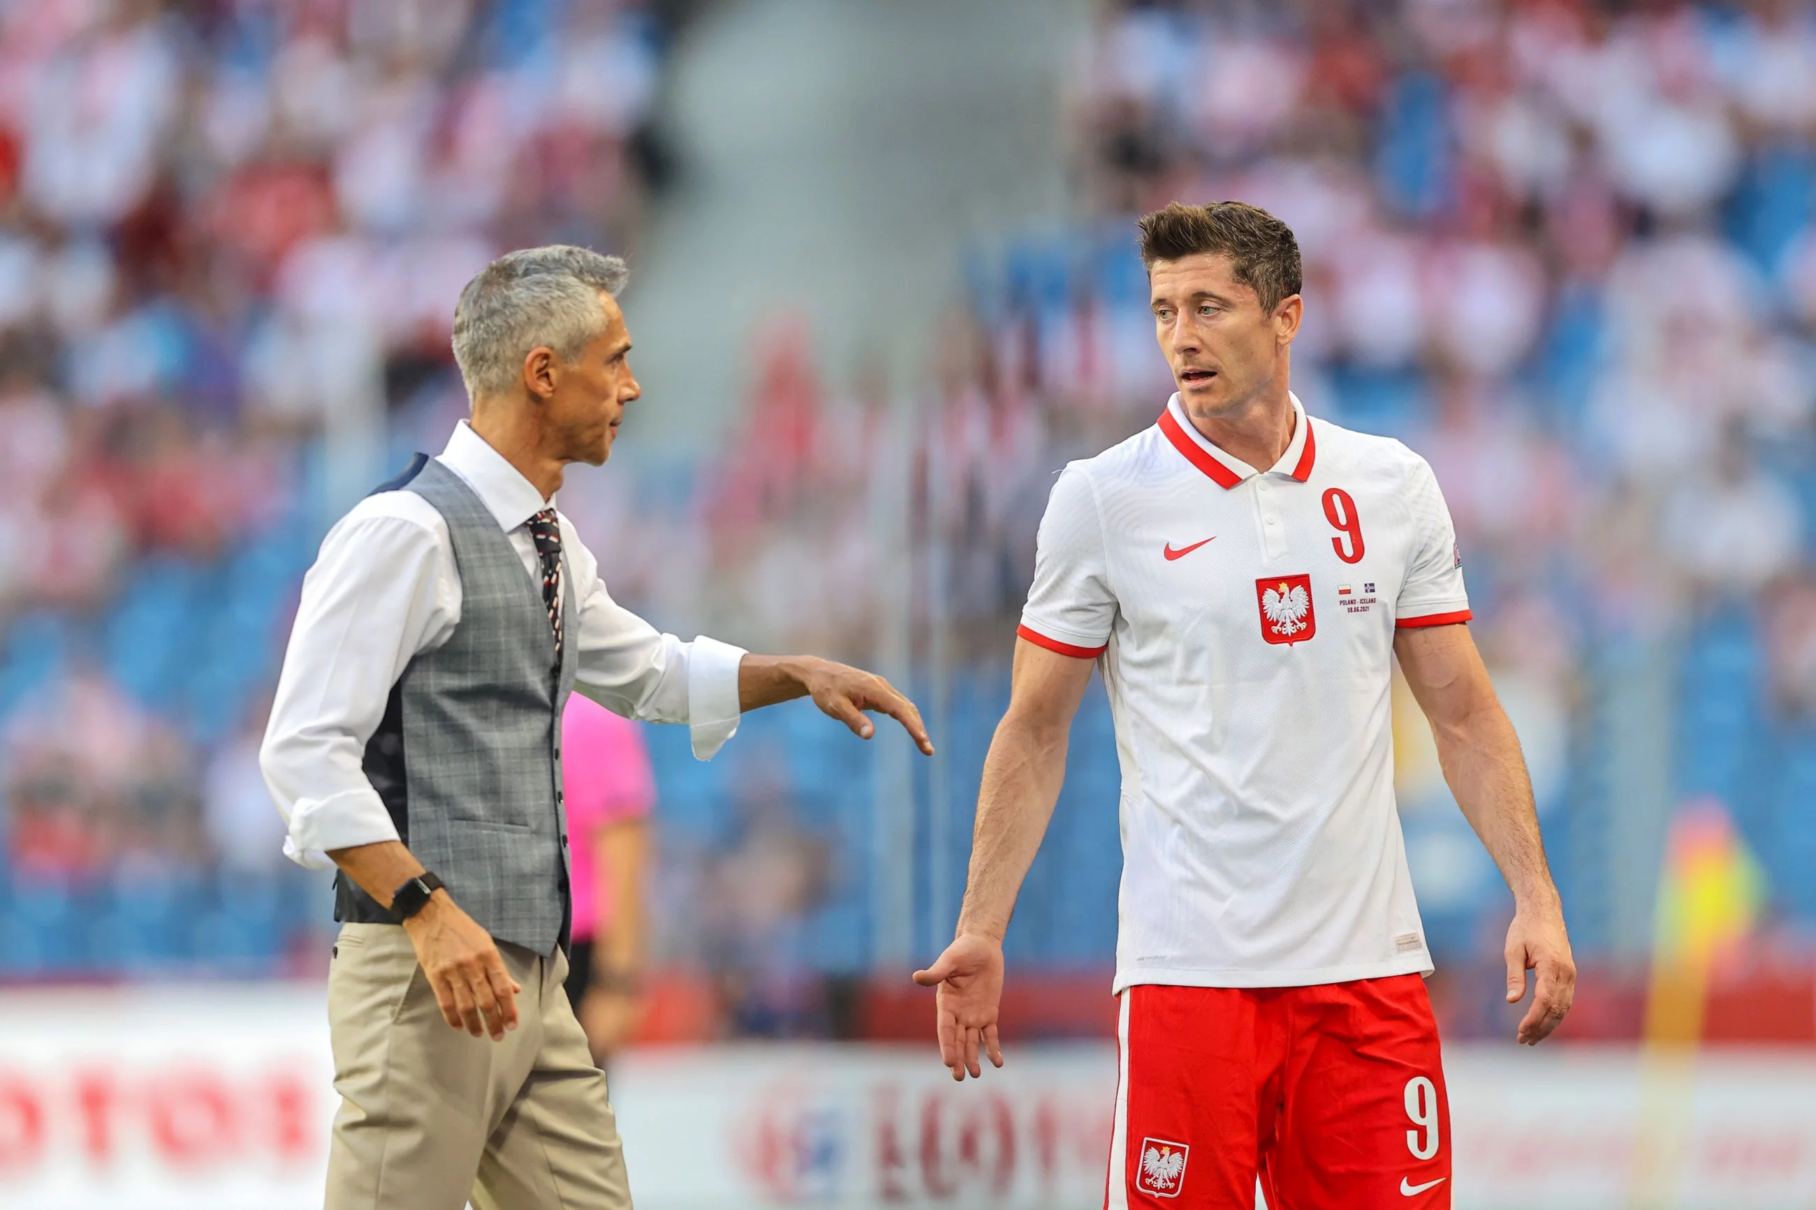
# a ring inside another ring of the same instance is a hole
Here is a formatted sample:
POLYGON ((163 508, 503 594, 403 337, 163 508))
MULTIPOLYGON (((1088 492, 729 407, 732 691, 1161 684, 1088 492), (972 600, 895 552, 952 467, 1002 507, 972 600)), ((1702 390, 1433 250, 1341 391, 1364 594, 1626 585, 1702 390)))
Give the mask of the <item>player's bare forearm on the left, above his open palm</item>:
POLYGON ((1002 940, 1066 778, 1068 727, 1006 717, 984 758, 957 932, 1002 940))

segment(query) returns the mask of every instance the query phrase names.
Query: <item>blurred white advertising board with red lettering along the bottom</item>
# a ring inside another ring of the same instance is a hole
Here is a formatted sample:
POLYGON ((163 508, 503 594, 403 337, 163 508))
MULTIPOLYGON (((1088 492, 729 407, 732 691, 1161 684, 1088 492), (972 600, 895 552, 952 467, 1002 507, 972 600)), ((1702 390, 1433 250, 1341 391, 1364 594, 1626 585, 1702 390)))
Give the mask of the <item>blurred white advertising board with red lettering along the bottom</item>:
MULTIPOLYGON (((0 992, 5 1210, 303 1210, 334 1116, 312 983, 0 992)), ((1115 1049, 650 1047, 612 1072, 639 1210, 1102 1205, 1115 1049)), ((1816 1050, 1451 1047, 1460 1210, 1816 1205, 1816 1050)))

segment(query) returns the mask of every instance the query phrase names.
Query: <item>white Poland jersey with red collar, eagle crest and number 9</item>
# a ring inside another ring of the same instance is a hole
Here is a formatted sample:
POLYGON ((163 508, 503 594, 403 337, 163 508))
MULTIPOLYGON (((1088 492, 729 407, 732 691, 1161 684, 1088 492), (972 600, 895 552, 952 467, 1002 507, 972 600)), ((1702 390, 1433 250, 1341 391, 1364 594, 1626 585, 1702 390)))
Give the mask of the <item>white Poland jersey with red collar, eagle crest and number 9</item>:
POLYGON ((1117 981, 1429 972, 1393 798, 1393 633, 1469 620, 1398 441, 1311 421, 1257 472, 1180 410, 1066 466, 1022 639, 1099 659, 1122 764, 1117 981))

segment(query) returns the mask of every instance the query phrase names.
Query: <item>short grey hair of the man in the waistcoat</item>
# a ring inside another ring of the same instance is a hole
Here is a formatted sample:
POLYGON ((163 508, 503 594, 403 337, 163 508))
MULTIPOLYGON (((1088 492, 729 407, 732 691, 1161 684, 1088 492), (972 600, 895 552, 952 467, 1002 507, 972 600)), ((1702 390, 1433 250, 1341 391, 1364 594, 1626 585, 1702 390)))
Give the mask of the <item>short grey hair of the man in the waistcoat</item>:
POLYGON ((577 357, 605 330, 599 290, 617 294, 627 278, 623 259, 570 243, 507 252, 481 268, 454 305, 454 361, 467 394, 510 394, 523 359, 541 345, 577 357))

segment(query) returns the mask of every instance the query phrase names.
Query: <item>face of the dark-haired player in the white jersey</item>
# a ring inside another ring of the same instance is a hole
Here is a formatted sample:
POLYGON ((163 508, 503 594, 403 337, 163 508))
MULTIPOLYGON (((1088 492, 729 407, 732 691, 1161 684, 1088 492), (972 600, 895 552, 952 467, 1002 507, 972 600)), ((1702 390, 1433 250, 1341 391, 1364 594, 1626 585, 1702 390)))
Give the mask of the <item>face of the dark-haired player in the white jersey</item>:
POLYGON ((1191 415, 1235 415, 1284 372, 1298 332, 1297 294, 1262 312, 1255 288, 1217 252, 1155 261, 1148 287, 1155 337, 1191 415))

